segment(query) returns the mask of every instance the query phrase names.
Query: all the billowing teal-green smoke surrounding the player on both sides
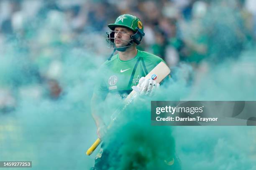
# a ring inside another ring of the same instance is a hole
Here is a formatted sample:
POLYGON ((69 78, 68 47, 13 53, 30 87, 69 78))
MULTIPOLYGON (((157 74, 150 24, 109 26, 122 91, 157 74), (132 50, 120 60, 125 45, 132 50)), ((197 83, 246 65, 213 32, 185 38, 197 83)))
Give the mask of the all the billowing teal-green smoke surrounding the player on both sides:
MULTIPOLYGON (((172 68, 172 80, 158 95, 131 104, 110 130, 105 142, 113 149, 112 169, 175 169, 164 163, 175 154, 184 170, 256 169, 254 127, 150 125, 151 100, 256 100, 255 42, 242 15, 229 6, 212 5, 209 11, 202 20, 207 26, 200 25, 208 51, 195 54, 201 64, 172 68)), ((99 35, 61 35, 62 17, 35 18, 2 47, 0 97, 8 102, 0 105, 0 160, 29 160, 36 170, 89 169, 94 164, 99 148, 90 157, 84 154, 97 138, 90 99, 97 67, 111 51, 104 53, 99 35), (52 82, 46 77, 59 83, 59 97, 50 95, 52 82)), ((110 97, 108 122, 116 105, 110 97)))

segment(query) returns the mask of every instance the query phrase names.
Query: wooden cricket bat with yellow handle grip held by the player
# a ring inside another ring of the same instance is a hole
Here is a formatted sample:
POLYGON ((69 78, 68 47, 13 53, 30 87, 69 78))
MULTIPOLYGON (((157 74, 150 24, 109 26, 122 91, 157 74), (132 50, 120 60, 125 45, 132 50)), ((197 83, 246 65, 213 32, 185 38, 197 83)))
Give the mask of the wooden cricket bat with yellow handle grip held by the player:
MULTIPOLYGON (((169 69, 169 67, 164 62, 161 61, 158 65, 156 65, 156 67, 153 68, 153 70, 151 70, 148 73, 148 75, 146 75, 145 78, 152 79, 157 83, 160 83, 162 80, 164 80, 166 76, 170 74, 170 72, 171 70, 169 69)), ((131 91, 131 93, 124 100, 125 106, 127 106, 129 103, 133 101, 134 97, 136 97, 136 94, 137 93, 135 90, 131 91)), ((118 113, 120 113, 120 111, 118 111, 118 113)), ((118 116, 118 113, 114 113, 115 116, 111 116, 112 122, 110 123, 108 128, 110 128, 111 124, 113 123, 115 118, 118 116)), ((86 155, 91 155, 93 151, 97 148, 97 146, 100 145, 100 143, 101 143, 101 140, 98 138, 95 141, 95 143, 93 143, 92 146, 87 150, 86 155)))

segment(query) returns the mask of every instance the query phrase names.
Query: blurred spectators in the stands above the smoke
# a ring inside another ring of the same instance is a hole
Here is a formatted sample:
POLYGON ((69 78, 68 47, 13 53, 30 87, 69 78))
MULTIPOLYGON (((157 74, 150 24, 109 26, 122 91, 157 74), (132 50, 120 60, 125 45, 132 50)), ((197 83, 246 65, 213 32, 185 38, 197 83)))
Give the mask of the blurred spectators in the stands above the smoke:
POLYGON ((96 68, 109 57, 107 25, 124 13, 143 22, 139 49, 170 67, 236 60, 256 40, 254 0, 1 0, 0 110, 25 94, 57 100, 82 82, 79 63, 96 68), (64 70, 74 63, 71 82, 64 70))

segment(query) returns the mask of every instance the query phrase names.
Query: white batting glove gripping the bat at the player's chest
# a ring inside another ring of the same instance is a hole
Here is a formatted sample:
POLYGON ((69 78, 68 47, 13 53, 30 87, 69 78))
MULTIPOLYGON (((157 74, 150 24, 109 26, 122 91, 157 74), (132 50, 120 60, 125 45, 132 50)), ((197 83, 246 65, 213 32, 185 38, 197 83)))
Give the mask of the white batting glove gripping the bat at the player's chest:
POLYGON ((159 86, 159 83, 156 83, 156 81, 141 77, 138 86, 133 86, 132 89, 139 95, 153 95, 159 86))

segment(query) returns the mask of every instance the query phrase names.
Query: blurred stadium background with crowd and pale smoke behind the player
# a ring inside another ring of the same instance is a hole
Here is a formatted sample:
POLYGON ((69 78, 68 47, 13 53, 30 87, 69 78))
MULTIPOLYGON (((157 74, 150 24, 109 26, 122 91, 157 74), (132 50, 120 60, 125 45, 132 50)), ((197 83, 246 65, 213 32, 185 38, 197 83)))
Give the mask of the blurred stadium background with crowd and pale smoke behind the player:
MULTIPOLYGON (((112 52, 107 25, 123 13, 143 21, 139 48, 173 70, 159 99, 256 100, 254 0, 1 0, 0 160, 92 167, 95 70, 112 52)), ((256 168, 253 127, 173 131, 185 170, 256 168)))

